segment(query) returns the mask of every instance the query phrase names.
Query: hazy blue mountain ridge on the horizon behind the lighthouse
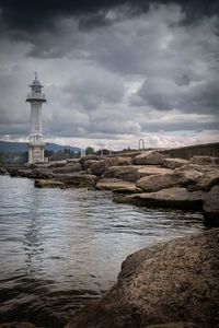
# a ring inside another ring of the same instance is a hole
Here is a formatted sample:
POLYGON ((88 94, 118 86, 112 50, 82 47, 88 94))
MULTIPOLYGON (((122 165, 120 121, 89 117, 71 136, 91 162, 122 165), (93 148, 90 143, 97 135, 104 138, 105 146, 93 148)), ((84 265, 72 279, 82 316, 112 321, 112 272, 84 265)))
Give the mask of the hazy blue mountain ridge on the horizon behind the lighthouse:
MULTIPOLYGON (((46 150, 51 150, 54 152, 64 151, 65 149, 70 149, 71 151, 79 152, 81 151, 78 147, 71 145, 60 145, 56 143, 46 142, 46 150)), ((12 142, 12 141, 0 141, 0 152, 1 153, 16 153, 16 152, 26 152, 26 142, 12 142)))

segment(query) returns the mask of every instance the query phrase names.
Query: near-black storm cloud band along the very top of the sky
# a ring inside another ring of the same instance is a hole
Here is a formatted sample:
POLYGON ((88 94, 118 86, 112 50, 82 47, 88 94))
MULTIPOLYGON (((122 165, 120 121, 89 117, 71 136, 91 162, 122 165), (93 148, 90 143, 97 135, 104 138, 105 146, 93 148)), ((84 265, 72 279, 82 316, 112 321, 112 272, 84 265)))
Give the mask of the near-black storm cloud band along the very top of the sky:
POLYGON ((218 14, 219 3, 214 0, 1 0, 1 17, 8 28, 25 34, 33 30, 39 32, 54 27, 54 22, 60 17, 81 17, 81 26, 91 28, 108 24, 105 13, 119 5, 130 8, 129 13, 148 11, 150 3, 177 3, 187 13, 188 20, 203 15, 218 14))

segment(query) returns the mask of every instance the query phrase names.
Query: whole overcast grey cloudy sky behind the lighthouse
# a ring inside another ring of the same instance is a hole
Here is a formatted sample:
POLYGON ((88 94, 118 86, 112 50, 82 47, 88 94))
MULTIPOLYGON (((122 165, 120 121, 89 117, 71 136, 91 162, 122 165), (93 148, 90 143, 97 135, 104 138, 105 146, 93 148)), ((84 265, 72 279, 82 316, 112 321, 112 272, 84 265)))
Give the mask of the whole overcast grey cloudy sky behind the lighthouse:
POLYGON ((218 3, 0 0, 0 139, 27 139, 37 71, 46 141, 219 141, 218 3))

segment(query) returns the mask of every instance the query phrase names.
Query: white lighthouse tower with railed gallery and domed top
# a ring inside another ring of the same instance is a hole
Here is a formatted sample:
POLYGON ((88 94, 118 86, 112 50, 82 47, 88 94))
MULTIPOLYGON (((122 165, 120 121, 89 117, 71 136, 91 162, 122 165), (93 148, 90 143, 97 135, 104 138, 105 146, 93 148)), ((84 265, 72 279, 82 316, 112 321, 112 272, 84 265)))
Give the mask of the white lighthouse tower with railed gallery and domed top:
POLYGON ((31 133, 28 148, 28 163, 44 162, 44 137, 42 130, 42 105, 46 102, 45 94, 42 93, 43 85, 35 79, 31 86, 31 93, 27 94, 26 102, 31 103, 31 133))

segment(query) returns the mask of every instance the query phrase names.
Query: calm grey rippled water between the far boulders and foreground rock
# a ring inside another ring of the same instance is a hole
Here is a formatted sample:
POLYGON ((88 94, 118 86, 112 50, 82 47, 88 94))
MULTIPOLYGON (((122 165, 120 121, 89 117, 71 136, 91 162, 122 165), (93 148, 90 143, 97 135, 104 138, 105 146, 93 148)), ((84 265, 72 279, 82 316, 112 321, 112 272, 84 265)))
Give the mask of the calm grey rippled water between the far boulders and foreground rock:
POLYGON ((64 327, 116 281, 127 255, 204 230, 198 212, 137 208, 108 191, 0 176, 0 323, 64 327))

